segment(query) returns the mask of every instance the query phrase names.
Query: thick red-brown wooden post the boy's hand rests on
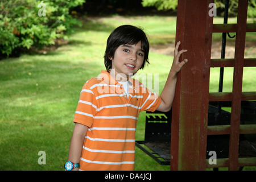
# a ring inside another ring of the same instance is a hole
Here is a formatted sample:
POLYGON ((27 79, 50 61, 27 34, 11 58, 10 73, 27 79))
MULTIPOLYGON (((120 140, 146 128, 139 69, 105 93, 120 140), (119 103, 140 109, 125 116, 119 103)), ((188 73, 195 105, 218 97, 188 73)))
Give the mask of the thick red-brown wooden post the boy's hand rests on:
POLYGON ((176 43, 188 59, 177 77, 172 106, 171 170, 204 170, 207 148, 210 53, 214 0, 179 0, 176 43))

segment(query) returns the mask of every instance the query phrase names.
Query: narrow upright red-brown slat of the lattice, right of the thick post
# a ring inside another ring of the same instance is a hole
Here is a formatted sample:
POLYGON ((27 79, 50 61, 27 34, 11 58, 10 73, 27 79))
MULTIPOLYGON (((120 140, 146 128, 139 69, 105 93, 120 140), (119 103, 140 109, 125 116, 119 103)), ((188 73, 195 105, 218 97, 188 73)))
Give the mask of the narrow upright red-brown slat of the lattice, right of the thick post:
POLYGON ((240 115, 242 97, 243 61, 245 54, 245 34, 248 1, 238 2, 236 51, 234 57, 234 76, 232 91, 232 110, 230 118, 229 170, 238 168, 238 148, 240 134, 240 115))

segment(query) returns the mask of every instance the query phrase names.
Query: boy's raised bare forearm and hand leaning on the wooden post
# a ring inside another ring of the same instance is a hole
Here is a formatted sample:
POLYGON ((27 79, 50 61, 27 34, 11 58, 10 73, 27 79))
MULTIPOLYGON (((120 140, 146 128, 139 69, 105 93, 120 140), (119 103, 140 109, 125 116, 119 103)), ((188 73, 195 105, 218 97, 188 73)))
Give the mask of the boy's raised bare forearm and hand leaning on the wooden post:
POLYGON ((180 46, 180 41, 177 43, 174 50, 174 61, 172 63, 172 67, 170 73, 168 75, 166 85, 164 85, 164 89, 160 94, 160 98, 162 99, 160 105, 158 106, 159 111, 167 112, 171 110, 172 102, 174 101, 174 94, 177 82, 177 73, 180 69, 188 62, 188 60, 183 60, 179 62, 180 55, 183 52, 187 52, 187 50, 178 51, 180 46))

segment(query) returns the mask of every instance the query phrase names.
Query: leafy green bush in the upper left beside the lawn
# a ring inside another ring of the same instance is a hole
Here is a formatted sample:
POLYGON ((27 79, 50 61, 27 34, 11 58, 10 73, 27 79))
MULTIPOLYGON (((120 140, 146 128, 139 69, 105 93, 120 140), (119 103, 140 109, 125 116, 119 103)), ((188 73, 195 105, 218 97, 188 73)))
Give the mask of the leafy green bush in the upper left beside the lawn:
POLYGON ((67 39, 80 24, 69 11, 85 0, 0 0, 0 49, 2 55, 42 48, 55 39, 67 39))

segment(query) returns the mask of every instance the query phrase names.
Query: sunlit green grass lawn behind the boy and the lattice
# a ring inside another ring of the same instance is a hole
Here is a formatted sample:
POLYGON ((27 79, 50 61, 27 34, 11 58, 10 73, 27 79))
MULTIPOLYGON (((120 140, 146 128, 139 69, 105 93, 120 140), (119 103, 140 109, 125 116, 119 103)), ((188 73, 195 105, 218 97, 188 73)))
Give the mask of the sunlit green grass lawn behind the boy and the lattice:
MULTIPOLYGON (((64 170, 82 85, 105 69, 106 39, 121 24, 143 27, 151 46, 168 46, 175 41, 175 17, 86 18, 81 28, 75 28, 69 43, 55 51, 0 61, 0 170, 64 170), (38 164, 39 151, 46 152, 46 164, 38 164)), ((160 93, 172 59, 170 55, 151 51, 150 65, 138 74, 159 73, 160 93)), ((256 71, 246 69, 243 90, 255 91, 256 71)), ((218 70, 212 69, 211 74, 210 92, 217 92, 218 70)), ((228 79, 224 80, 224 92, 231 92, 232 74, 232 69, 225 70, 228 79)), ((137 140, 144 138, 144 122, 145 113, 141 113, 137 140)), ((135 170, 170 169, 138 148, 135 158, 135 170)))

